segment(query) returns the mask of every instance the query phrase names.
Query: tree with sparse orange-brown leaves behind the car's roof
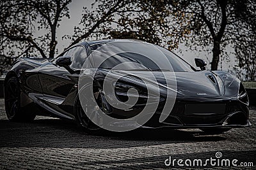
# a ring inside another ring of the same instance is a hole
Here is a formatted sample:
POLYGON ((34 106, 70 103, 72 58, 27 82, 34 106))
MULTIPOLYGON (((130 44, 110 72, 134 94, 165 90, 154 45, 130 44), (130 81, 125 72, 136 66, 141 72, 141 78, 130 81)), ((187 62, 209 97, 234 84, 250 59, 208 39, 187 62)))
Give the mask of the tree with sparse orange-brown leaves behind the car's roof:
POLYGON ((132 38, 158 45, 169 41, 174 48, 190 33, 187 27, 180 27, 186 20, 177 19, 175 14, 164 0, 97 0, 92 10, 84 8, 74 36, 65 38, 72 39, 71 45, 97 38, 132 38))

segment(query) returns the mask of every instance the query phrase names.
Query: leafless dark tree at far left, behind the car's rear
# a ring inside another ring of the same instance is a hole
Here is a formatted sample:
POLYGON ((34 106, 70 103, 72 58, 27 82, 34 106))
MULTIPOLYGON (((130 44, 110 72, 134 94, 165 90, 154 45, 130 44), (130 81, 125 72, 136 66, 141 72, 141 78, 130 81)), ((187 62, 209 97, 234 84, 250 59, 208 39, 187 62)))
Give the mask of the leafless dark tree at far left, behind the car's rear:
POLYGON ((41 57, 54 57, 56 31, 61 18, 69 17, 67 5, 70 2, 71 0, 1 1, 0 48, 4 49, 1 55, 19 57, 28 51, 37 51, 41 57), (38 25, 37 28, 35 24, 38 25), (35 29, 44 31, 45 34, 36 38, 35 29))

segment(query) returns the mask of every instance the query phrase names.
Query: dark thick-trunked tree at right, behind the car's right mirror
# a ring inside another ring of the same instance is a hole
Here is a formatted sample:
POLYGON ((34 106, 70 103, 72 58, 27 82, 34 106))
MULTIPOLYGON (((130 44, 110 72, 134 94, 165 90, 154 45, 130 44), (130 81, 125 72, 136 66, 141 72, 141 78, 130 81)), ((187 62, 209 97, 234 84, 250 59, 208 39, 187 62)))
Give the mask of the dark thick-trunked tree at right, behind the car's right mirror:
MULTIPOLYGON (((248 16, 244 8, 255 4, 251 0, 193 0, 168 1, 170 5, 186 14, 191 14, 191 37, 187 45, 212 46, 211 69, 218 69, 221 54, 227 45, 248 37, 246 22, 239 12, 248 16), (244 8, 241 8, 241 7, 244 8)), ((234 47, 234 46, 233 46, 234 47)))

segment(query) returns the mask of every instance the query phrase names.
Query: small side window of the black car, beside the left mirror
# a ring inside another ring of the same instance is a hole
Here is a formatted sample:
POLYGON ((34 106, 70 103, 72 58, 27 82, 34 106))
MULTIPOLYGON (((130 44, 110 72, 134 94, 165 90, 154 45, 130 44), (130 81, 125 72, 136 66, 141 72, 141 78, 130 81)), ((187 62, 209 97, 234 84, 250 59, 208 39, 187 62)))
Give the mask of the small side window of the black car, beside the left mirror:
POLYGON ((67 56, 72 57, 72 64, 70 67, 75 69, 81 69, 83 67, 84 61, 87 58, 86 50, 83 46, 76 46, 68 50, 67 56))

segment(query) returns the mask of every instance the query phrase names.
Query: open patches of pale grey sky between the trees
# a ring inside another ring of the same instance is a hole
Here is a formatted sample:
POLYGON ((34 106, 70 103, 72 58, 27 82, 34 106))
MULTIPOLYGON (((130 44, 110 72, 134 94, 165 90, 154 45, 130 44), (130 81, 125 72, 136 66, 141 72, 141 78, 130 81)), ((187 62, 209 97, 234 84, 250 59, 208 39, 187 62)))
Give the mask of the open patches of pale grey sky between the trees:
MULTIPOLYGON (((62 39, 65 35, 72 35, 74 33, 74 26, 78 26, 79 22, 81 20, 82 12, 83 12, 83 6, 87 6, 88 8, 91 8, 91 4, 93 3, 93 0, 73 0, 72 3, 69 4, 69 10, 70 10, 70 19, 63 18, 60 22, 60 27, 58 27, 57 30, 57 49, 58 52, 61 53, 64 48, 67 48, 67 46, 70 45, 70 40, 68 39, 62 39)), ((35 35, 40 36, 40 34, 44 34, 44 31, 36 31, 35 35)), ((93 39, 92 39, 93 40, 93 39)), ((228 51, 232 50, 231 48, 228 49, 228 51)), ((183 59, 188 61, 190 64, 195 66, 194 59, 196 57, 205 59, 209 65, 209 60, 212 59, 212 53, 208 52, 197 52, 189 50, 186 46, 180 45, 179 50, 175 50, 175 53, 180 55, 183 59)), ((230 56, 231 61, 230 62, 223 62, 222 69, 227 70, 228 66, 234 65, 234 56, 230 56)), ((219 69, 221 69, 221 66, 219 65, 219 69)))

